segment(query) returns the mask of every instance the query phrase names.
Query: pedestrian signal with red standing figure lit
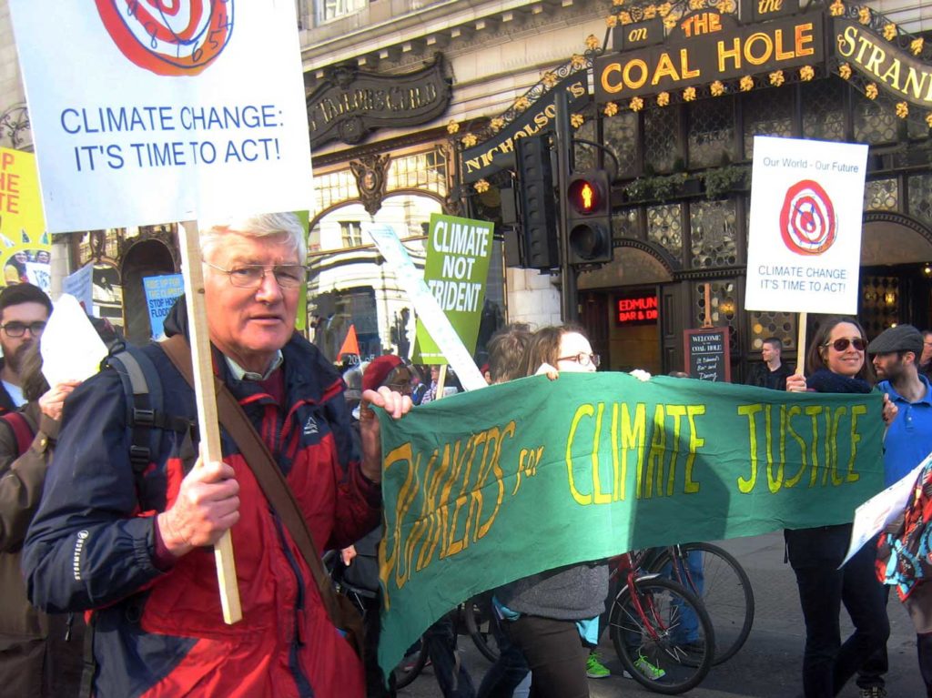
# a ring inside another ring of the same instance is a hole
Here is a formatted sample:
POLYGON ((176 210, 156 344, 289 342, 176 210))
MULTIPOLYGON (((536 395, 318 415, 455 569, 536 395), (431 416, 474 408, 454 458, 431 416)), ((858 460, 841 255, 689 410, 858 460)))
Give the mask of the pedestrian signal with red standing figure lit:
POLYGON ((604 170, 573 172, 567 185, 569 264, 611 261, 611 185, 604 170))

